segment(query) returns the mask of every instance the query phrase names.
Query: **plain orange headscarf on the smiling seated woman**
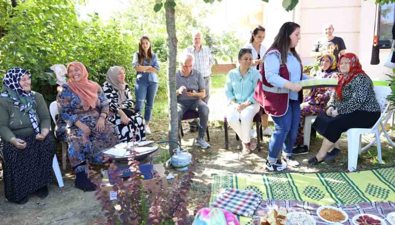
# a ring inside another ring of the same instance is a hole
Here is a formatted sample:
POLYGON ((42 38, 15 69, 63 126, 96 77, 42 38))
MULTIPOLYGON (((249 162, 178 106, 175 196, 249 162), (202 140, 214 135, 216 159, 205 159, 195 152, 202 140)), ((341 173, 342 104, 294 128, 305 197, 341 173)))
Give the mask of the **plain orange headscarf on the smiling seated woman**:
POLYGON ((70 87, 71 91, 81 98, 85 110, 88 110, 89 107, 92 107, 92 109, 96 108, 99 87, 98 83, 88 80, 88 71, 84 64, 80 62, 71 62, 67 65, 67 72, 71 66, 77 67, 81 70, 83 78, 80 82, 74 82, 73 78, 69 76, 67 85, 70 87))

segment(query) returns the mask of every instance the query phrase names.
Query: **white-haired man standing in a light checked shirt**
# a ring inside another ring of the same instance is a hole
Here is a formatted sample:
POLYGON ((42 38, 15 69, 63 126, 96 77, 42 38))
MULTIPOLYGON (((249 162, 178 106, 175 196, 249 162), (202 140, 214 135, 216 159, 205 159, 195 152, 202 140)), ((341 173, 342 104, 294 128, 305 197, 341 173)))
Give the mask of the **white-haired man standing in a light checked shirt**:
MULTIPOLYGON (((214 65, 214 58, 211 54, 211 50, 208 46, 203 46, 203 34, 199 30, 192 32, 193 45, 184 49, 184 53, 190 53, 195 57, 194 69, 199 71, 204 78, 206 95, 202 99, 203 102, 209 104, 210 89, 211 89, 211 67, 214 65)), ((194 120, 190 123, 190 131, 194 132, 198 128, 198 120, 194 120)))

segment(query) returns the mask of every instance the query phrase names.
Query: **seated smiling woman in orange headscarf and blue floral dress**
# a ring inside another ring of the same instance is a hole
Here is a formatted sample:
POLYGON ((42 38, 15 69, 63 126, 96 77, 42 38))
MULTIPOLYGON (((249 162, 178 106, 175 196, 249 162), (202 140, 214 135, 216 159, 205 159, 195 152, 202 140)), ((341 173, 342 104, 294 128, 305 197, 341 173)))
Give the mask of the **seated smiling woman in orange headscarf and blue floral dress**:
POLYGON ((103 150, 119 143, 118 134, 115 126, 106 120, 108 100, 102 88, 88 80, 85 66, 71 62, 67 73, 69 80, 56 97, 60 109, 56 135, 65 136, 68 142, 68 157, 77 175, 75 187, 93 191, 96 186, 85 174, 85 164, 102 163, 103 150))

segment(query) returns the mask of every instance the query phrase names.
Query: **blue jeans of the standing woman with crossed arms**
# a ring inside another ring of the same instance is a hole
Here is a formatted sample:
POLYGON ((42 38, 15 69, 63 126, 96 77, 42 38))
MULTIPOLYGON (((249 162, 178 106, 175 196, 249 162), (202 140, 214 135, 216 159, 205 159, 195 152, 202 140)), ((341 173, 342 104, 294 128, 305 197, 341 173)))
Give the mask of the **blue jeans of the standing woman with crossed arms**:
POLYGON ((145 122, 149 122, 152 115, 152 108, 154 107, 154 100, 156 91, 158 91, 158 83, 151 82, 148 80, 137 80, 136 86, 134 87, 134 94, 136 97, 135 111, 143 115, 143 105, 145 103, 145 122))

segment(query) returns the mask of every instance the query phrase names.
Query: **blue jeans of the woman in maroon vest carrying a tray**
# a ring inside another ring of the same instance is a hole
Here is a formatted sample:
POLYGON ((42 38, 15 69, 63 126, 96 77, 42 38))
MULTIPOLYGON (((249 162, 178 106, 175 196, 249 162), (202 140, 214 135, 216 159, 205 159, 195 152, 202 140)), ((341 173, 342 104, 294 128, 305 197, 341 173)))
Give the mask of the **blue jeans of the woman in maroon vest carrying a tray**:
POLYGON ((270 162, 276 162, 281 148, 282 155, 291 156, 293 145, 297 139, 297 131, 300 121, 300 103, 298 100, 291 100, 288 110, 283 116, 273 116, 275 132, 270 137, 269 156, 270 162))

